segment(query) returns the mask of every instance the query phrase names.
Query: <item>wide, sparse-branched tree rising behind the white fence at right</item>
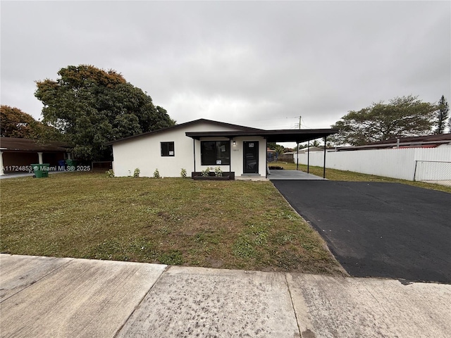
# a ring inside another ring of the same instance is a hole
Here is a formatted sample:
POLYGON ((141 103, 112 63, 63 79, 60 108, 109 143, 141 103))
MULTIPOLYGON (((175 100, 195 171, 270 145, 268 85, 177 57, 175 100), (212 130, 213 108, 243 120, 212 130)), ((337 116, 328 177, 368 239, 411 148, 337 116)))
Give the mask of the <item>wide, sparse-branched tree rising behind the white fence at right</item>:
POLYGON ((350 111, 332 125, 339 132, 329 140, 335 145, 361 146, 394 137, 431 134, 435 111, 435 105, 422 102, 418 96, 395 97, 388 104, 381 101, 350 111))

